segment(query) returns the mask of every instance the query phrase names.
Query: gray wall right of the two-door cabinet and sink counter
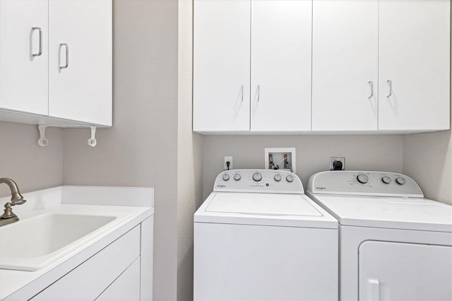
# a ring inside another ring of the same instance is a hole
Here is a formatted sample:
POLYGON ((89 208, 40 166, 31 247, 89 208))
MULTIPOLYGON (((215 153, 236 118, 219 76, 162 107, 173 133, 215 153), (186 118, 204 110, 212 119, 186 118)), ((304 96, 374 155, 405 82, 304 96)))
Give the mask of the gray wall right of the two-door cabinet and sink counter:
POLYGON ((177 1, 113 2, 113 127, 64 132, 64 184, 155 188, 154 298, 177 298, 177 1))

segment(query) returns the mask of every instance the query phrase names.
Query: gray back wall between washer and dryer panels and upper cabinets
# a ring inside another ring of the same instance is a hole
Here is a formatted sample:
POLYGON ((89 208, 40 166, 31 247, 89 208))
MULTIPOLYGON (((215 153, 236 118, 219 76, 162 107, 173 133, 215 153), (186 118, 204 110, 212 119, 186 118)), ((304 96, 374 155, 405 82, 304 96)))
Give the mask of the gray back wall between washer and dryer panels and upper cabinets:
POLYGON ((330 157, 345 157, 347 170, 402 172, 402 136, 205 136, 203 197, 213 189, 223 169, 223 156, 232 155, 234 168, 263 168, 264 148, 292 147, 297 175, 307 187, 315 172, 328 170, 330 157))

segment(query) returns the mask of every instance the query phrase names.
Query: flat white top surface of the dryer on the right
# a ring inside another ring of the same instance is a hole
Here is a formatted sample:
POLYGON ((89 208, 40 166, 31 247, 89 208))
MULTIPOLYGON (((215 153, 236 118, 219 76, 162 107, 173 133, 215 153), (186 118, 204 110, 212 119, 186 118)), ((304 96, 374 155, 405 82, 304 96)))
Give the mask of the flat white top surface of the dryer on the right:
POLYGON ((452 232, 452 206, 422 198, 312 196, 341 225, 452 232))

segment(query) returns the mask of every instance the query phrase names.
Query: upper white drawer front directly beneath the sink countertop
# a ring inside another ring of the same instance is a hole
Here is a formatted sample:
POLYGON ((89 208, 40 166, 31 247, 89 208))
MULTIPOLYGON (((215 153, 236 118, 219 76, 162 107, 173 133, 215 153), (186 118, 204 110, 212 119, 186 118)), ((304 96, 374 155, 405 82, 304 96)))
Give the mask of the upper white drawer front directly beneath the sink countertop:
POLYGON ((138 225, 32 300, 95 300, 140 255, 140 235, 138 225))

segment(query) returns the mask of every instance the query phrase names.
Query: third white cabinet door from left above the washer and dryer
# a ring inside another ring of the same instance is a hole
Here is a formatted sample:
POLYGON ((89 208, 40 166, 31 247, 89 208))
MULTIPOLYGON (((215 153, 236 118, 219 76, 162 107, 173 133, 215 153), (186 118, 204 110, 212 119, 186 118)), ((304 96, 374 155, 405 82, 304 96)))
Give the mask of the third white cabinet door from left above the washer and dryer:
POLYGON ((379 1, 313 6, 312 130, 376 130, 379 1))

